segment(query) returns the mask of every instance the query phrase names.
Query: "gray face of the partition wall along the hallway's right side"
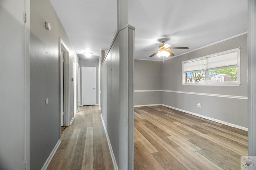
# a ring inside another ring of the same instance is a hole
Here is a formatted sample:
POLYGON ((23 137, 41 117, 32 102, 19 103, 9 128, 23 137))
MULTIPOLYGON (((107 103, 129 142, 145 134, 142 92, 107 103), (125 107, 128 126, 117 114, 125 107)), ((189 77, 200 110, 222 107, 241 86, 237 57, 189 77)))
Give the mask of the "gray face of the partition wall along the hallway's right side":
POLYGON ((107 57, 102 64, 102 117, 110 143, 119 165, 119 45, 118 38, 112 44, 107 57))

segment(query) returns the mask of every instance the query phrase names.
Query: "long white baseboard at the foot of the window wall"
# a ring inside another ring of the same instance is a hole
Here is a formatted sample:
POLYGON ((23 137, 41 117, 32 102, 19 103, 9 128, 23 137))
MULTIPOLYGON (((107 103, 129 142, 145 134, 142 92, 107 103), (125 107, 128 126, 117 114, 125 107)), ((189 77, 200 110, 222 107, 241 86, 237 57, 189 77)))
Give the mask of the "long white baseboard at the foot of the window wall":
POLYGON ((195 116, 198 116, 198 117, 202 117, 202 118, 204 118, 204 119, 208 119, 208 120, 211 120, 211 121, 215 121, 215 122, 218 122, 218 123, 221 123, 221 124, 224 124, 224 125, 228 125, 228 126, 231 126, 231 127, 235 127, 235 128, 238 128, 238 129, 242 129, 242 130, 244 130, 244 131, 248 131, 248 128, 246 128, 246 127, 242 127, 242 126, 239 126, 239 125, 235 125, 235 124, 232 124, 232 123, 228 123, 228 122, 226 122, 226 121, 214 119, 214 118, 212 118, 212 117, 200 115, 200 114, 197 114, 197 113, 193 113, 193 112, 191 112, 191 111, 186 111, 186 110, 179 109, 179 108, 172 107, 172 106, 168 106, 168 105, 165 105, 165 104, 161 104, 161 105, 162 105, 162 106, 165 106, 165 107, 169 107, 169 108, 171 108, 171 109, 178 110, 178 111, 183 111, 183 112, 188 113, 188 114, 191 114, 191 115, 195 115, 195 116))

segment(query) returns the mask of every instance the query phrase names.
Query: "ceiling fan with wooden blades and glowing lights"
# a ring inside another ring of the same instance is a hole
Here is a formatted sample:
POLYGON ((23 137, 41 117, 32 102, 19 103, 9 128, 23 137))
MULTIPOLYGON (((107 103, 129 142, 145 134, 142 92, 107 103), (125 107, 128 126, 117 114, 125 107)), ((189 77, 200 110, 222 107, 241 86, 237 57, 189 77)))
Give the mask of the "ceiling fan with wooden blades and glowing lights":
POLYGON ((170 47, 171 46, 170 44, 165 44, 165 39, 163 39, 161 42, 163 44, 159 45, 158 52, 150 55, 149 57, 153 57, 154 55, 157 55, 158 57, 161 57, 161 56, 165 56, 165 57, 171 56, 172 57, 172 56, 174 56, 174 53, 170 52, 169 50, 188 49, 188 47, 170 47))

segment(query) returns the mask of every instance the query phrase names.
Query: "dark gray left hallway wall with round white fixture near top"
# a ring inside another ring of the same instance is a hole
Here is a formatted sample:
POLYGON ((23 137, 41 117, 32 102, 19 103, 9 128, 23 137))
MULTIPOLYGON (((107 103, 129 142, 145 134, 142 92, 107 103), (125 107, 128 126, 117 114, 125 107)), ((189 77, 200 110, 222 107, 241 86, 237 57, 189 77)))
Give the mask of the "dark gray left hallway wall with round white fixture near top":
POLYGON ((59 37, 70 50, 71 117, 74 113, 71 78, 76 53, 49 0, 31 1, 30 17, 30 169, 41 169, 60 139, 59 37), (51 31, 45 29, 46 21, 50 22, 51 31))

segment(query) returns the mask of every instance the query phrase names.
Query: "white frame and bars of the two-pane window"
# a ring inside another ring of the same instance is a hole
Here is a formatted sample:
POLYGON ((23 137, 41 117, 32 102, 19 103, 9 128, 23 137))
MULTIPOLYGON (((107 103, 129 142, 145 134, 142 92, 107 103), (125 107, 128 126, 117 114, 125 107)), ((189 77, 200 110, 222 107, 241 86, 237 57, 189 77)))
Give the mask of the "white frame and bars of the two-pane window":
POLYGON ((188 85, 188 86, 240 86, 241 85, 241 78, 240 78, 240 57, 241 56, 241 47, 239 48, 235 48, 235 49, 231 49, 231 50, 227 50, 227 51, 222 51, 219 53, 214 53, 211 55, 206 55, 203 57, 198 57, 195 59, 190 59, 187 61, 182 61, 182 85, 188 85), (210 57, 218 57, 220 55, 225 55, 228 53, 232 53, 232 52, 236 52, 237 51, 237 65, 232 65, 232 66, 222 66, 222 67, 218 67, 218 68, 207 68, 207 62, 208 62, 208 58, 210 57), (205 60, 205 68, 204 68, 204 72, 205 72, 205 82, 191 82, 188 83, 186 82, 186 73, 188 72, 197 72, 197 71, 202 71, 201 70, 190 70, 190 71, 184 71, 184 65, 186 63, 192 62, 192 61, 198 61, 198 60, 205 60), (224 68, 237 68, 237 82, 208 82, 208 70, 218 70, 218 69, 224 69, 224 68))

